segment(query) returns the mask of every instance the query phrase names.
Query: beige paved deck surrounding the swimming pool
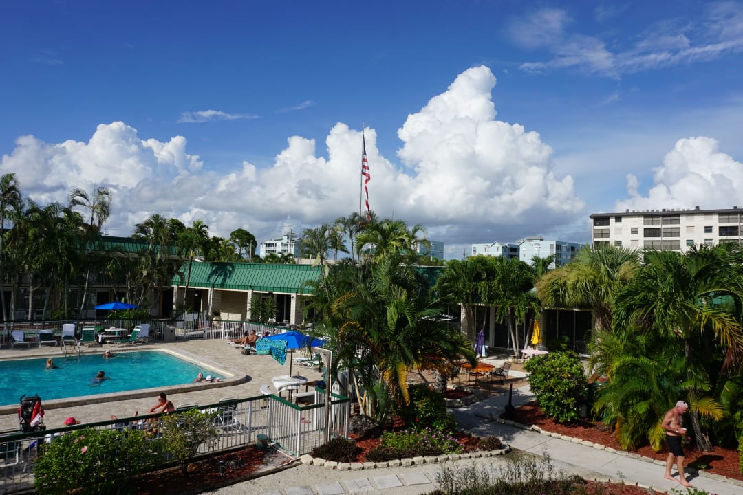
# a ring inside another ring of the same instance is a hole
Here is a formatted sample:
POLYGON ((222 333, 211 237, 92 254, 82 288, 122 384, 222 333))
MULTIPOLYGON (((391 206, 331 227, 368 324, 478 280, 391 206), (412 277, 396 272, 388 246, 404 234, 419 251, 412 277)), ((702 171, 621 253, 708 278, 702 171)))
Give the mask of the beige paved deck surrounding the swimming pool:
MULTIPOLYGON (((223 370, 235 370, 236 373, 241 375, 238 379, 227 379, 218 383, 195 384, 195 387, 185 387, 189 389, 198 388, 198 390, 169 393, 168 399, 175 404, 175 407, 181 404, 214 404, 227 397, 244 399, 246 397, 260 396, 262 395, 260 391, 261 386, 271 384, 271 378, 279 375, 288 375, 289 360, 291 359, 291 353, 288 353, 286 357, 287 362, 282 366, 270 355, 243 355, 238 347, 230 347, 222 339, 195 339, 170 344, 136 345, 120 349, 112 345, 94 348, 82 347, 82 353, 102 355, 104 350, 110 349, 115 355, 117 351, 123 352, 124 350, 139 350, 142 348, 165 349, 175 352, 181 351, 191 355, 191 357, 201 357, 206 364, 216 364, 223 370)), ((0 350, 0 358, 57 358, 60 355, 62 355, 62 352, 59 350, 59 347, 31 347, 30 349, 19 347, 16 349, 0 350)), ((299 353, 295 351, 294 355, 302 354, 301 351, 299 353)), ((103 358, 101 358, 101 361, 103 361, 103 358)), ((41 369, 39 373, 43 373, 43 371, 41 369)), ((297 372, 307 377, 310 381, 322 379, 322 374, 317 370, 302 367, 295 362, 292 367, 292 373, 296 375, 297 372)), ((205 367, 204 375, 208 374, 210 374, 210 370, 205 367)), ((273 390, 273 386, 271 388, 273 390)), ((19 397, 23 394, 33 395, 34 393, 33 384, 19 384, 19 397)), ((44 424, 47 427, 62 426, 62 422, 68 416, 74 416, 76 419, 86 423, 106 421, 111 419, 111 414, 119 418, 133 416, 134 411, 139 411, 140 414, 146 414, 157 403, 155 400, 157 393, 157 390, 152 390, 151 394, 145 394, 145 397, 141 397, 141 393, 137 393, 137 391, 132 391, 132 393, 122 392, 117 395, 129 396, 131 398, 71 407, 54 407, 53 404, 57 401, 45 401, 44 397, 42 397, 42 405, 45 411, 44 424)), ((6 407, 2 412, 0 414, 0 430, 19 430, 18 416, 15 410, 12 413, 8 413, 6 407)))

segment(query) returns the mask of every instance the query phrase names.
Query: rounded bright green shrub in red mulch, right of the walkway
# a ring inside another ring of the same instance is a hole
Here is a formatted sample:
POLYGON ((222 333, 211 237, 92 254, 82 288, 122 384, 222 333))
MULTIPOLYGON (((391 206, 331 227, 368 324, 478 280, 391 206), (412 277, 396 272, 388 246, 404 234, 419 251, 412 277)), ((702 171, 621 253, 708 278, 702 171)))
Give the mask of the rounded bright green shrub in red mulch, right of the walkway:
POLYGON ((529 387, 548 418, 565 423, 580 419, 580 404, 588 380, 583 364, 572 353, 549 353, 526 361, 529 387))

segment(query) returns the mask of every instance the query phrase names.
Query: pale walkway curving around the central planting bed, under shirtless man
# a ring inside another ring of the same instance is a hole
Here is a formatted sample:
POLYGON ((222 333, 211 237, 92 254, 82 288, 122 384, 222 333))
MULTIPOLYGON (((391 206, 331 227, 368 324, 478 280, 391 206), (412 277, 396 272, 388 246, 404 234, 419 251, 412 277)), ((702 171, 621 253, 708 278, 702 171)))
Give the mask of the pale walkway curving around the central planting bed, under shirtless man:
MULTIPOLYGON (((513 405, 518 406, 533 400, 528 385, 513 390, 513 405)), ((493 418, 503 412, 508 394, 493 396, 468 407, 454 410, 460 427, 476 436, 495 435, 511 447, 534 454, 548 454, 555 468, 583 476, 585 479, 625 482, 672 494, 672 489, 684 493, 678 482, 663 479, 663 464, 617 453, 611 450, 582 445, 571 440, 560 439, 548 433, 525 430, 513 424, 494 422, 493 418)), ((502 457, 461 459, 449 462, 457 466, 497 466, 502 457)), ((357 466, 358 468, 359 466, 357 466)), ((395 468, 364 469, 363 471, 339 471, 327 466, 297 464, 279 473, 262 476, 230 487, 210 492, 221 495, 343 495, 343 494, 425 494, 437 488, 436 476, 441 472, 439 464, 413 464, 395 468)), ((675 471, 674 471, 675 473, 675 471)), ((688 475, 695 488, 710 494, 743 494, 743 483, 688 475)))

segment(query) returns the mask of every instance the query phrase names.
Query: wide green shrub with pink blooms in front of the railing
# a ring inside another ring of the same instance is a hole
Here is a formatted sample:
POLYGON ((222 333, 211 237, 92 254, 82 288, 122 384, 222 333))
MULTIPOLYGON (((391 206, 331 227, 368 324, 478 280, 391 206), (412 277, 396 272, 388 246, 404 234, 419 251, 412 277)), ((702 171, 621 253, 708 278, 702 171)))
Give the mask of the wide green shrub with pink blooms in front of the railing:
POLYGON ((75 430, 41 450, 34 488, 48 495, 128 494, 141 473, 162 465, 163 448, 142 430, 75 430))

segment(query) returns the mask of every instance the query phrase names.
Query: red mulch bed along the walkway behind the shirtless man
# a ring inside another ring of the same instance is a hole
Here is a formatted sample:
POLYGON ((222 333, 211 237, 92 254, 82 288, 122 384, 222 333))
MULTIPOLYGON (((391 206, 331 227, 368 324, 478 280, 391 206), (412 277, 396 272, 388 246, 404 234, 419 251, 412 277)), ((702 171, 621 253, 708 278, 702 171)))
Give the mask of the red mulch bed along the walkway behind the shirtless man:
MULTIPOLYGON (((617 440, 614 439, 614 433, 606 425, 589 421, 560 424, 553 419, 548 419, 536 402, 530 402, 521 407, 516 407, 516 416, 513 419, 522 424, 536 424, 542 430, 551 433, 560 433, 561 435, 572 436, 574 438, 588 440, 588 442, 606 445, 606 447, 623 450, 620 448, 617 440)), ((684 450, 686 453, 686 464, 690 468, 701 469, 701 466, 704 465, 704 471, 708 473, 719 474, 726 478, 743 481, 743 474, 741 474, 739 468, 739 454, 737 450, 716 447, 714 452, 703 453, 691 445, 685 446, 684 450)), ((663 446, 661 452, 655 452, 649 445, 632 451, 640 454, 640 456, 661 459, 663 461, 668 457, 668 449, 665 446, 663 446)))

